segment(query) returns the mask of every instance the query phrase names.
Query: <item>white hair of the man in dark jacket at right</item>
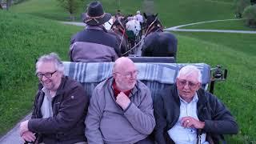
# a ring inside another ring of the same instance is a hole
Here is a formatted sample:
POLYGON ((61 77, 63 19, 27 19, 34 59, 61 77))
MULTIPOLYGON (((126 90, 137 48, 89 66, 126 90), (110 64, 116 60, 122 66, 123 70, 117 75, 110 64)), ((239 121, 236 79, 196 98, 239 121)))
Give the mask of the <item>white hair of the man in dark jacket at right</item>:
POLYGON ((182 67, 181 70, 178 71, 178 76, 177 78, 179 78, 181 75, 190 75, 193 73, 197 73, 198 74, 198 82, 202 83, 202 74, 201 74, 201 70, 199 70, 196 66, 184 66, 182 67))

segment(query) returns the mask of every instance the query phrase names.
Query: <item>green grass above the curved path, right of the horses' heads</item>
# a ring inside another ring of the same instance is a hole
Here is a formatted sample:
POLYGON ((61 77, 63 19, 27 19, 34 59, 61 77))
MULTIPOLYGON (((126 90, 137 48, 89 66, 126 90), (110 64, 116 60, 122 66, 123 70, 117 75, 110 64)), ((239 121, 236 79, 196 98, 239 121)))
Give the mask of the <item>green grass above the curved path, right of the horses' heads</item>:
POLYGON ((166 27, 234 18, 232 3, 223 0, 158 0, 154 6, 155 13, 166 27))

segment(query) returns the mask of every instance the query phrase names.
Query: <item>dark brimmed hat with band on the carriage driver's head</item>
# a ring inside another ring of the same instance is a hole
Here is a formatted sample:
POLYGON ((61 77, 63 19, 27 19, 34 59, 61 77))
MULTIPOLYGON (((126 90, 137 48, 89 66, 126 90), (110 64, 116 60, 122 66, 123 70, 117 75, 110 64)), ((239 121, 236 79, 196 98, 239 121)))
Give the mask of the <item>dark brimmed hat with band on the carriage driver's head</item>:
POLYGON ((108 22, 111 14, 105 13, 101 2, 90 2, 87 7, 84 22, 87 25, 102 25, 108 22))

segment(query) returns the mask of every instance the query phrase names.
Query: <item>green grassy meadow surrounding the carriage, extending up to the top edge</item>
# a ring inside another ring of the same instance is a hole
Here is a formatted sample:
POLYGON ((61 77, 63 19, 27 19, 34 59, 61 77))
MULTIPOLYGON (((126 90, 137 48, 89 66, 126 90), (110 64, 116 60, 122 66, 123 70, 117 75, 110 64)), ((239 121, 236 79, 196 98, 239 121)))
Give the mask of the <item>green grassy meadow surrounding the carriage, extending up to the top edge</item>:
MULTIPOLYGON (((80 7, 80 14, 85 10, 80 7)), ((166 27, 234 18, 233 0, 102 0, 106 12, 136 10, 158 13, 166 27), (152 9, 151 5, 154 4, 152 9), (150 4, 146 6, 146 4, 150 4)), ((82 27, 63 25, 68 13, 54 0, 27 0, 10 11, 0 10, 0 135, 10 130, 32 108, 38 80, 34 62, 38 56, 57 52, 68 61, 70 37, 82 27)), ((202 23, 182 29, 253 30, 242 20, 202 23)), ((178 38, 178 62, 205 62, 228 70, 226 82, 215 84, 214 94, 238 121, 239 133, 227 143, 256 143, 256 34, 172 32, 178 38)))

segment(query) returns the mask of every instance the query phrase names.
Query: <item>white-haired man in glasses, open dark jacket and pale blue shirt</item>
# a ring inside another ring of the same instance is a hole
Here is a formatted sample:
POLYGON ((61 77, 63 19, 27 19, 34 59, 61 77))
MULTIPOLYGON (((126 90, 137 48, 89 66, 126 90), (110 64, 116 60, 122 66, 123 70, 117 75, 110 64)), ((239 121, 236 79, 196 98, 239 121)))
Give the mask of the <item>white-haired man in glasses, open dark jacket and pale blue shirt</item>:
POLYGON ((226 106, 201 88, 196 66, 184 66, 176 85, 154 102, 158 144, 222 143, 222 134, 237 134, 238 124, 226 106))

